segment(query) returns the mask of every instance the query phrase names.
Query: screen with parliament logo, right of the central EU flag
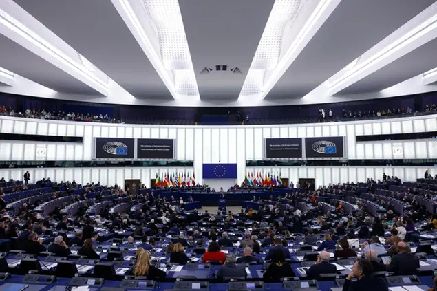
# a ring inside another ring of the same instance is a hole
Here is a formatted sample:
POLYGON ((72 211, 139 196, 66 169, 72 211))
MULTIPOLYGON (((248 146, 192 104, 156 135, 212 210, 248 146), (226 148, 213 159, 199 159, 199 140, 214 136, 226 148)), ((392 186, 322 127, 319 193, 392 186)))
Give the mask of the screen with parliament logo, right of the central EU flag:
POLYGON ((344 139, 342 136, 305 138, 306 158, 343 158, 344 139))

